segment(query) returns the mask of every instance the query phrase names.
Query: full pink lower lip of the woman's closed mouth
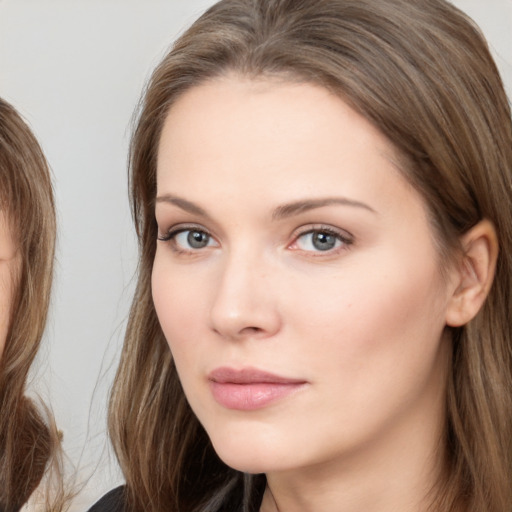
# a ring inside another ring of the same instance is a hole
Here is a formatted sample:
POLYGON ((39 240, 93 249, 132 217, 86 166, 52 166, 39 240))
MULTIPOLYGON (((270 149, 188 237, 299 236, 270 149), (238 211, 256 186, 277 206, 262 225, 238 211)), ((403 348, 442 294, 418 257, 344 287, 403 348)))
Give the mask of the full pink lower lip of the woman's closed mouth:
POLYGON ((277 402, 304 386, 303 383, 255 382, 234 384, 210 381, 214 399, 227 409, 254 411, 277 402))

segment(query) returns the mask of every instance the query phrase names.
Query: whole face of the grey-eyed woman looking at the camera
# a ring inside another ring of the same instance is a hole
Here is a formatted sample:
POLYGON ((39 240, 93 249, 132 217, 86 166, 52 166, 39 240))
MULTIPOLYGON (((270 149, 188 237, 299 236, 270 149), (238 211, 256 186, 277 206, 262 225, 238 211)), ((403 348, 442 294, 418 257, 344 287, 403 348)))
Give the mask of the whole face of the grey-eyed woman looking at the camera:
POLYGON ((227 464, 307 469, 438 432, 449 286, 396 160, 313 85, 233 76, 172 107, 153 298, 227 464))

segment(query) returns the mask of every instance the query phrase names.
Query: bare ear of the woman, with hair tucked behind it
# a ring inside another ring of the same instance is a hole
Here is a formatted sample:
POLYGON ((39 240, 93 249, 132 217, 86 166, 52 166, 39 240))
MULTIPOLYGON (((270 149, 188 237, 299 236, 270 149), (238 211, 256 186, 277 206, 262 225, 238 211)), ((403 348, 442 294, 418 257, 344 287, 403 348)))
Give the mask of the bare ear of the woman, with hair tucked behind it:
POLYGON ((494 279, 498 238, 492 222, 484 219, 461 239, 462 256, 456 263, 456 286, 446 309, 446 324, 460 327, 482 307, 494 279))

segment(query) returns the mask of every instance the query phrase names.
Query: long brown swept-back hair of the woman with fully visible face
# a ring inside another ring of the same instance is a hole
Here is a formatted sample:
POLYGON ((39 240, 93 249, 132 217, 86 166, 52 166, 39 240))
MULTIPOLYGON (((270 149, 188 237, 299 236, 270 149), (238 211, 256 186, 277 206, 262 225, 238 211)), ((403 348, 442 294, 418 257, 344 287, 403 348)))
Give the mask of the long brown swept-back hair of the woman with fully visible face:
POLYGON ((500 244, 478 315, 452 329, 447 475, 435 510, 512 510, 512 126, 487 43, 444 0, 222 0, 154 71, 130 149, 138 281, 110 399, 130 510, 257 510, 263 476, 224 465, 187 405, 151 298, 156 158, 171 106, 226 75, 322 86, 373 123, 427 204, 441 262, 490 220, 500 244))

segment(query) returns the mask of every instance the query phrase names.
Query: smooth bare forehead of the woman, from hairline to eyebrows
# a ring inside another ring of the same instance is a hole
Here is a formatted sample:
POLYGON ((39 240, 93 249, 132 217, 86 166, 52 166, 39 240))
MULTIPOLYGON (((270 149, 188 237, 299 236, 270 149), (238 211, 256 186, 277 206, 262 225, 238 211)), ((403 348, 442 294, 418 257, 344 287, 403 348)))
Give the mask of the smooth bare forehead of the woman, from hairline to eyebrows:
POLYGON ((250 190, 282 202, 362 193, 364 181, 366 192, 379 194, 394 181, 408 186, 398 161, 391 142, 327 89, 229 76, 193 87, 170 109, 157 193, 227 199, 250 190))

